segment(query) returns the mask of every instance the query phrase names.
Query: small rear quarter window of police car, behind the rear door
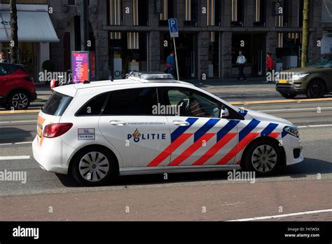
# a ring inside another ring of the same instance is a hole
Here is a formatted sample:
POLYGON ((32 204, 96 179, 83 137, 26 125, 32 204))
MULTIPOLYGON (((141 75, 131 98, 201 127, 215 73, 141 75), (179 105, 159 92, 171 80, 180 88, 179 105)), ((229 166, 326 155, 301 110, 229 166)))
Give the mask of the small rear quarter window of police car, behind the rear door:
POLYGON ((99 116, 108 95, 109 93, 103 93, 93 97, 77 111, 76 116, 99 116))

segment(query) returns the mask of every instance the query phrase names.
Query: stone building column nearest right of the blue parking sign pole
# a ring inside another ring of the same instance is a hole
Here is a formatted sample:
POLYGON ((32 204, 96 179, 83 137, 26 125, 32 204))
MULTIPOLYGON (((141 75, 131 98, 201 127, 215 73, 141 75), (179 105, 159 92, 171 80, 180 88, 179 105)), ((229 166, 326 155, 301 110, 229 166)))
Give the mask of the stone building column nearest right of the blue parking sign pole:
POLYGON ((198 79, 209 72, 209 32, 198 33, 198 79))

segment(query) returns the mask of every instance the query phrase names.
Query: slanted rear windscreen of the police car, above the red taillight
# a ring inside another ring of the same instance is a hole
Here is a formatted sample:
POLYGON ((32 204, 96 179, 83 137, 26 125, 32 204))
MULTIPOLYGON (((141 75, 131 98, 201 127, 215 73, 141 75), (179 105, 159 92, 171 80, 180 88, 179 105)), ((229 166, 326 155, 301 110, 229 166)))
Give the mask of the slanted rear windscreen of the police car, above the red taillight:
POLYGON ((44 114, 62 116, 71 100, 73 100, 73 97, 64 95, 62 93, 53 93, 53 95, 50 96, 44 105, 42 111, 44 114))

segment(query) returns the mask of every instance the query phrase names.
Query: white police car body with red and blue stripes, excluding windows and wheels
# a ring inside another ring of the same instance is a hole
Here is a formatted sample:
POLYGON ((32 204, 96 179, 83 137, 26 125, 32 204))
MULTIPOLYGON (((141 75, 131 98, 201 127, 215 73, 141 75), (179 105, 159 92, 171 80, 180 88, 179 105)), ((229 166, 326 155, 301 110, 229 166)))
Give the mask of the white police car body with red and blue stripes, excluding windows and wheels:
POLYGON ((242 154, 258 137, 270 137, 279 143, 284 150, 284 165, 303 161, 300 139, 284 131, 286 126, 294 127, 292 123, 257 111, 243 111, 190 83, 130 77, 73 84, 54 90, 74 98, 61 116, 39 113, 39 135, 32 144, 33 154, 41 168, 50 172, 68 174, 72 158, 92 144, 113 152, 120 175, 240 169, 242 154), (83 104, 101 93, 167 87, 204 93, 242 114, 244 119, 75 115, 83 104), (59 137, 44 137, 43 128, 51 123, 73 123, 73 126, 59 137), (294 149, 300 151, 296 158, 294 149))

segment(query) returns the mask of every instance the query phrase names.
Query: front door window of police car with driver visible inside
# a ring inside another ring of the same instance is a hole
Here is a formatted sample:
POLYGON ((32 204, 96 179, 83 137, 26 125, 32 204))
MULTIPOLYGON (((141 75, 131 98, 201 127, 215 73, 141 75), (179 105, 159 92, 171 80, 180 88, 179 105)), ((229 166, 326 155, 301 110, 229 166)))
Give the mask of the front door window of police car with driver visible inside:
POLYGON ((221 106, 212 97, 186 88, 166 88, 166 103, 178 106, 180 116, 220 118, 221 106))

